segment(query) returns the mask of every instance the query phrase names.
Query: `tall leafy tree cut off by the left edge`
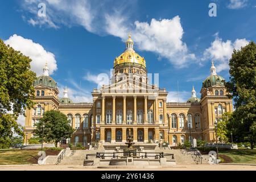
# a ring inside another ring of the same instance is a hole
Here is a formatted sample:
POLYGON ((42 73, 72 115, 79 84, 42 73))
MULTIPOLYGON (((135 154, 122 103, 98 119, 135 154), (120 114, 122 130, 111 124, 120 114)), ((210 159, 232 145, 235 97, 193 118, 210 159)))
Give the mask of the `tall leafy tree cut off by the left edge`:
POLYGON ((16 122, 26 108, 33 105, 36 74, 30 70, 31 59, 6 46, 0 39, 0 139, 8 140, 14 133, 22 136, 16 122))

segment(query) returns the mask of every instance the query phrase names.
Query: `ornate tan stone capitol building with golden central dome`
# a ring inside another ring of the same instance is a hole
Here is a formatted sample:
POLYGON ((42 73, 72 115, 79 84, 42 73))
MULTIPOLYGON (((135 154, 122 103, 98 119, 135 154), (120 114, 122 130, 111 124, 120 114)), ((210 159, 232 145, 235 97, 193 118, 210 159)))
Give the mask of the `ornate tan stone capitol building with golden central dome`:
POLYGON ((49 76, 49 68, 34 81, 35 105, 26 110, 24 132, 30 138, 34 124, 48 110, 67 115, 76 130, 71 143, 124 143, 130 129, 135 143, 158 143, 171 146, 191 138, 214 142, 214 123, 222 114, 232 111, 232 100, 226 96, 224 78, 216 74, 212 63, 203 81, 201 97, 192 88, 187 102, 167 102, 166 89, 148 84, 146 60, 133 48, 129 35, 125 51, 114 60, 109 85, 92 90, 92 103, 74 103, 65 88, 59 98, 57 83, 49 76))

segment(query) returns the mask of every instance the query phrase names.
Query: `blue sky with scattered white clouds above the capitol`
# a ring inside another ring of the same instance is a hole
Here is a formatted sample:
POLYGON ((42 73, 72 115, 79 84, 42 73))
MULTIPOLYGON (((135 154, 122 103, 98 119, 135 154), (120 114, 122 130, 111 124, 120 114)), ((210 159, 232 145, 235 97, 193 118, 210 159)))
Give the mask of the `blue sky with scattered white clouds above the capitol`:
POLYGON ((168 101, 197 97, 213 59, 219 75, 229 78, 233 48, 256 40, 253 0, 197 1, 61 1, 13 0, 0 6, 0 38, 30 56, 38 75, 47 61, 60 97, 65 85, 76 102, 92 100, 97 75, 108 73, 125 49, 131 31, 135 50, 146 59, 148 73, 159 73, 168 101), (39 3, 46 16, 38 16, 39 3), (209 3, 217 5, 210 17, 209 3))

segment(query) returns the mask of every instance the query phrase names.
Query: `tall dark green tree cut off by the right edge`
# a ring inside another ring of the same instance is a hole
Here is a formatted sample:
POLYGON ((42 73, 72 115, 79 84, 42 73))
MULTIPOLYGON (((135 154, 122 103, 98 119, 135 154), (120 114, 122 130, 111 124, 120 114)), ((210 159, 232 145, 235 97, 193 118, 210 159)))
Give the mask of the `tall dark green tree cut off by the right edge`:
POLYGON ((256 143, 256 45, 250 42, 241 51, 234 50, 229 61, 230 80, 225 83, 229 97, 234 100, 234 112, 229 130, 236 142, 256 143))

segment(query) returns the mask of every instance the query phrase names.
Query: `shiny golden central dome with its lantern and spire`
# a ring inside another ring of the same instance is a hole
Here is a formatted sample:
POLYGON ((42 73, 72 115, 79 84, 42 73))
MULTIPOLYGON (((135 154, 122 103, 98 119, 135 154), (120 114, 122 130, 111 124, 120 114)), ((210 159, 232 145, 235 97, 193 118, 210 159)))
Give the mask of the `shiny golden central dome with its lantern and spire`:
POLYGON ((133 49, 133 40, 129 34, 129 38, 126 41, 126 50, 120 56, 116 57, 114 60, 114 67, 119 64, 139 64, 146 68, 146 60, 141 57, 133 49))

